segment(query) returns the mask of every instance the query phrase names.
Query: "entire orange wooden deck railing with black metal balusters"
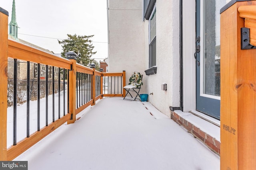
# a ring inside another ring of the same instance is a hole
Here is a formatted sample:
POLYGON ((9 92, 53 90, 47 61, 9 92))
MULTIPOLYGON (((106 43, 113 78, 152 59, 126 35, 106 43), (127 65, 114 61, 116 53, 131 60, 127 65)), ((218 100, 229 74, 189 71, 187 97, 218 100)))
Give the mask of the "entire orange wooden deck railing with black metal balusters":
POLYGON ((10 40, 8 12, 3 10, 0 23, 0 160, 13 160, 65 122, 74 123, 96 100, 123 96, 125 71, 102 73, 10 40), (107 94, 103 76, 113 90, 107 94))

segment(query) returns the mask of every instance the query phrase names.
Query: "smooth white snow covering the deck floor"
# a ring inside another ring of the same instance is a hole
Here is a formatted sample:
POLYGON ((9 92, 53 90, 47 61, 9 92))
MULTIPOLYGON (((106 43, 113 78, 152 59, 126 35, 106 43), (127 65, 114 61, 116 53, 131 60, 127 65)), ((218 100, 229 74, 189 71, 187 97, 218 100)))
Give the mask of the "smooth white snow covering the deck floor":
POLYGON ((218 155, 148 102, 104 98, 79 115, 15 160, 29 170, 220 169, 218 155))

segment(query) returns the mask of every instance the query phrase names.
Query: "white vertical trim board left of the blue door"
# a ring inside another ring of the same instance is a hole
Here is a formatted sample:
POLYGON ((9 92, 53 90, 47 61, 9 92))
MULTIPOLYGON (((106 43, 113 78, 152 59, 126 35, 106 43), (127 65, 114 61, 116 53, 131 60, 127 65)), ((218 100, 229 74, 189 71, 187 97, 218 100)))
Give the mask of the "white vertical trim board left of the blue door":
POLYGON ((183 7, 183 111, 196 110, 196 1, 182 2, 183 7))

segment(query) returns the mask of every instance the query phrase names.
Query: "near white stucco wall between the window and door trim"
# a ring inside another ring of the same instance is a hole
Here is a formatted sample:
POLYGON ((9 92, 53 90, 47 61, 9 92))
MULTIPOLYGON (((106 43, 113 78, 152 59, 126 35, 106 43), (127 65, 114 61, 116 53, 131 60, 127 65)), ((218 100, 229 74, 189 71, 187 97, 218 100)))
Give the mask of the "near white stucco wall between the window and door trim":
POLYGON ((153 92, 149 101, 166 115, 170 115, 169 106, 180 106, 179 35, 179 1, 156 1, 157 74, 147 77, 146 86, 149 94, 153 92), (162 83, 167 91, 161 90, 162 83))

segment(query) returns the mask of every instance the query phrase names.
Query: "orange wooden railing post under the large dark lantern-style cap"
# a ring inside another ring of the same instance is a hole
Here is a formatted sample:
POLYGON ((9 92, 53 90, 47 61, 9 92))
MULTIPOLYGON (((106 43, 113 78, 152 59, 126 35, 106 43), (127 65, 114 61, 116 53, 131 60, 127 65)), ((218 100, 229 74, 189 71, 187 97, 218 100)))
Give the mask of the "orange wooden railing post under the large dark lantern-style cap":
POLYGON ((69 70, 69 113, 72 114, 72 119, 68 120, 68 124, 76 121, 76 60, 72 61, 72 70, 69 70))

